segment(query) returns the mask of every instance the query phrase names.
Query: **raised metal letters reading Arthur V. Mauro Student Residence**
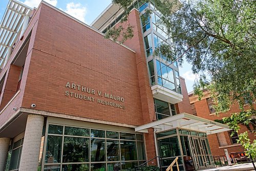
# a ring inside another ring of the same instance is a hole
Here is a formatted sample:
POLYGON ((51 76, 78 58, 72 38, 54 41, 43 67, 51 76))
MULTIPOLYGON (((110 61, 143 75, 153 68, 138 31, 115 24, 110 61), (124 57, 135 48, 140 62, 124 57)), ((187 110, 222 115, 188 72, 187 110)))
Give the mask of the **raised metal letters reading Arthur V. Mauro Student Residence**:
POLYGON ((125 109, 124 105, 122 104, 124 102, 123 97, 116 96, 110 93, 103 93, 98 90, 96 91, 92 88, 84 87, 76 83, 67 82, 65 87, 71 89, 71 91, 65 91, 66 96, 96 102, 97 104, 112 106, 114 108, 125 109), (108 100, 100 98, 107 98, 108 100), (109 100, 115 100, 116 102, 112 102, 109 100))

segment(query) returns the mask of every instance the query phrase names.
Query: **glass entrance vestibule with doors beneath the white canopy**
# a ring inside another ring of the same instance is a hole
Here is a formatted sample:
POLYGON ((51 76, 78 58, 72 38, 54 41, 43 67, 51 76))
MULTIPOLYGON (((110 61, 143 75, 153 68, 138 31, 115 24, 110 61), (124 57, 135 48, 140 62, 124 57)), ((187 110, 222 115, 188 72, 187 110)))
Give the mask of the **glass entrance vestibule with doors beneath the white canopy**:
MULTIPOLYGON (((193 170, 214 166, 208 139, 205 133, 174 129, 157 134, 158 152, 163 157, 165 170, 179 157, 180 170, 193 170)), ((177 169, 173 167, 174 170, 177 169)))

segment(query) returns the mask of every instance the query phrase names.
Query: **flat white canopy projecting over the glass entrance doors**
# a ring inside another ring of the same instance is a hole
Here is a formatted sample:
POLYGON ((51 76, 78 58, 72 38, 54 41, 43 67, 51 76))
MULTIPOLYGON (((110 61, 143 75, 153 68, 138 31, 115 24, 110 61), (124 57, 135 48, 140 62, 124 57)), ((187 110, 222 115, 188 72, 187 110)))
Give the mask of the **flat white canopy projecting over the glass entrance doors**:
POLYGON ((147 129, 155 128, 157 129, 156 132, 161 132, 175 129, 177 127, 179 127, 180 129, 189 129, 197 132, 204 132, 207 135, 230 130, 229 126, 225 124, 200 118, 198 116, 181 113, 175 116, 170 116, 161 120, 138 126, 135 128, 135 131, 147 133, 147 129))

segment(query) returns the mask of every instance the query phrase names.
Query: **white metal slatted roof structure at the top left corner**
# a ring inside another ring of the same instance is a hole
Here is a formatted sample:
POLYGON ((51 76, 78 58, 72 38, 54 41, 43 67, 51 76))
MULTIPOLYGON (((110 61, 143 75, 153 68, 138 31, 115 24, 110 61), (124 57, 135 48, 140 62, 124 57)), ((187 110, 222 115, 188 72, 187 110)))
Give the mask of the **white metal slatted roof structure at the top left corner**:
POLYGON ((16 0, 9 1, 0 23, 0 69, 3 69, 5 60, 8 60, 11 53, 9 48, 12 48, 17 35, 22 32, 24 18, 31 12, 32 8, 16 0))

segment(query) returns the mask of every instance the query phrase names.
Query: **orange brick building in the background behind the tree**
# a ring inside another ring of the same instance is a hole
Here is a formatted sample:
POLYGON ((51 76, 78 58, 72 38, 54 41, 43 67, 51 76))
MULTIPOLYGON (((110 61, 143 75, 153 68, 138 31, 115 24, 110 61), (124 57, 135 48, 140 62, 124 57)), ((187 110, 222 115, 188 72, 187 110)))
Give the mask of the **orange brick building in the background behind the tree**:
MULTIPOLYGON (((239 105, 233 104, 230 110, 226 113, 220 113, 219 116, 215 115, 215 110, 212 108, 213 101, 210 98, 210 92, 204 90, 203 97, 201 100, 198 100, 198 96, 194 95, 193 92, 189 93, 189 100, 191 104, 191 109, 193 110, 193 115, 209 119, 212 121, 221 120, 224 117, 231 116, 232 113, 238 113, 239 105)), ((247 106, 245 106, 245 109, 247 106)), ((253 128, 251 127, 251 130, 253 128)), ((239 133, 244 133, 245 131, 250 131, 246 126, 241 125, 239 133)), ((231 136, 232 131, 225 131, 217 134, 207 135, 209 140, 209 145, 211 153, 213 156, 224 156, 224 149, 227 149, 229 154, 234 156, 237 153, 244 153, 244 148, 241 144, 237 143, 238 134, 231 136)), ((249 134, 251 140, 254 139, 253 134, 249 134)))

